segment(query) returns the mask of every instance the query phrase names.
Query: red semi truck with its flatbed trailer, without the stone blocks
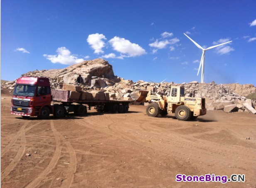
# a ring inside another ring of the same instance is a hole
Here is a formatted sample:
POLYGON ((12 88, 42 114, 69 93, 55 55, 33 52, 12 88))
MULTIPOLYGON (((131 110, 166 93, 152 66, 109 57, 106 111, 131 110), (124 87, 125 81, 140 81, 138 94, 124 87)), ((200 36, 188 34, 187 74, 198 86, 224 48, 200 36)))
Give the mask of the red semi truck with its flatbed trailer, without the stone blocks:
POLYGON ((85 115, 91 107, 100 112, 127 113, 129 103, 126 100, 72 100, 71 91, 52 90, 47 77, 20 77, 12 94, 11 114, 29 118, 37 116, 46 119, 50 114, 56 118, 70 112, 85 115))

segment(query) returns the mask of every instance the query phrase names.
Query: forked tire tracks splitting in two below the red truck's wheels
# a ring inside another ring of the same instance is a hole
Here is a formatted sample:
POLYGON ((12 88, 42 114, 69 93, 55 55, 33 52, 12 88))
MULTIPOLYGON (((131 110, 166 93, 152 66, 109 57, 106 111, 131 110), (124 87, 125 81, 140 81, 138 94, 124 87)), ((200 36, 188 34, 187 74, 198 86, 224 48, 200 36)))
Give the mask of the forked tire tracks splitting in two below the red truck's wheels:
POLYGON ((72 145, 70 142, 65 142, 65 137, 59 133, 56 128, 54 127, 54 121, 51 120, 51 130, 54 134, 55 140, 56 140, 56 149, 54 152, 54 156, 52 157, 51 161, 49 162, 49 165, 44 169, 44 171, 32 182, 30 182, 26 187, 27 188, 34 188, 39 185, 41 181, 48 180, 46 177, 56 166, 58 163, 60 156, 61 156, 61 142, 64 142, 64 144, 68 147, 69 151, 69 156, 70 156, 70 161, 69 161, 69 166, 68 166, 68 176, 63 182, 61 187, 71 187, 71 184, 74 179, 74 174, 76 172, 76 153, 75 150, 73 149, 72 145))

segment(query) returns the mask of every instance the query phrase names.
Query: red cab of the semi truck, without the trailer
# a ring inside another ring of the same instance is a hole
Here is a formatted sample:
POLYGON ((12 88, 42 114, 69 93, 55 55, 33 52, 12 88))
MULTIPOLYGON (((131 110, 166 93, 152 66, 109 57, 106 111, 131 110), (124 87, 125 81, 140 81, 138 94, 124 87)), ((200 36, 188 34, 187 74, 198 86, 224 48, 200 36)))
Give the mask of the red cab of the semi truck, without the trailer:
POLYGON ((11 113, 22 117, 50 113, 51 84, 46 77, 20 77, 12 94, 11 113))

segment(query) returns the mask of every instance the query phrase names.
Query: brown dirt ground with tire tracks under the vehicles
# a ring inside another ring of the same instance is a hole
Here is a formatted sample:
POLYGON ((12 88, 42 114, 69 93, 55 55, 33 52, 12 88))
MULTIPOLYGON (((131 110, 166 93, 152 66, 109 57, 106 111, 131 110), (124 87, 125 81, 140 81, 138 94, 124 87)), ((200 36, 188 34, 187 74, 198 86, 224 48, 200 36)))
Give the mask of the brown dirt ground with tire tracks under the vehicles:
POLYGON ((22 119, 10 114, 11 96, 1 98, 2 188, 256 187, 256 115, 208 111, 183 122, 130 106, 22 119), (176 182, 176 174, 245 174, 245 182, 176 182))

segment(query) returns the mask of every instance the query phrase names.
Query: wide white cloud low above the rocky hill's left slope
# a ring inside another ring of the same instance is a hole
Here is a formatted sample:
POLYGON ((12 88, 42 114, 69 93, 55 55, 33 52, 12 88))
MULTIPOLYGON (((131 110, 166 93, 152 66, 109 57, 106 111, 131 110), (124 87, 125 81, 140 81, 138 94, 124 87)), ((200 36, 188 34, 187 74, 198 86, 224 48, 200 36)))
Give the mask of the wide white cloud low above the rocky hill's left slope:
POLYGON ((61 63, 63 65, 72 65, 83 62, 83 59, 78 59, 76 55, 72 55, 66 47, 60 47, 56 50, 56 55, 44 54, 51 63, 61 63))

